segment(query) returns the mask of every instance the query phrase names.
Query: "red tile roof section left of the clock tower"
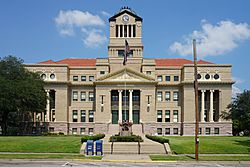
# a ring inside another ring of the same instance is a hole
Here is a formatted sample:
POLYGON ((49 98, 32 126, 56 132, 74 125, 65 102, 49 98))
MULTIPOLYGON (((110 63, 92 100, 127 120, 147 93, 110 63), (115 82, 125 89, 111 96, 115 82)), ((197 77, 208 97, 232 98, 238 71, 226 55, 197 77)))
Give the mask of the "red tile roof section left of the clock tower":
POLYGON ((57 62, 48 60, 40 62, 38 64, 67 64, 68 66, 95 66, 96 59, 63 59, 57 62))

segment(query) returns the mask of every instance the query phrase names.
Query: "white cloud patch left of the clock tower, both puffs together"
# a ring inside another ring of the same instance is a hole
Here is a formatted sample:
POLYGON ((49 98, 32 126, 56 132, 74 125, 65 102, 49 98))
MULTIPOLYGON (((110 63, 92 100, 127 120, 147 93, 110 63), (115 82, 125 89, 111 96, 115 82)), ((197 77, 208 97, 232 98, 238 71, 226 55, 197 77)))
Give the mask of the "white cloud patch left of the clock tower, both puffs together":
MULTIPOLYGON (((104 11, 101 14, 108 15, 104 11)), ((83 43, 88 48, 96 48, 107 41, 102 30, 105 22, 100 16, 88 11, 61 10, 54 20, 61 36, 82 36, 83 43), (77 33, 81 35, 76 35, 77 33)))

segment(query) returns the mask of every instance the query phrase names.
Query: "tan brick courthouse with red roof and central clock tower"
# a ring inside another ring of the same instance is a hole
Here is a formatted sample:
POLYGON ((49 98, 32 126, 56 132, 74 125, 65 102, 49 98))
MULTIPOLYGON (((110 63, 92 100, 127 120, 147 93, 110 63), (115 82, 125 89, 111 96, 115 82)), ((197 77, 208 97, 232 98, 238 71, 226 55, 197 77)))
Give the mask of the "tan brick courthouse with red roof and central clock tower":
MULTIPOLYGON (((44 129, 44 123, 51 132, 115 134, 118 123, 128 120, 134 133, 194 134, 193 61, 144 58, 142 21, 129 8, 109 18, 108 53, 103 53, 107 58, 26 65, 41 74, 49 97, 45 112, 34 114, 37 128, 44 129), (130 53, 123 65, 125 40, 130 53)), ((198 61, 201 135, 232 134, 232 122, 220 118, 231 102, 231 67, 198 61)))

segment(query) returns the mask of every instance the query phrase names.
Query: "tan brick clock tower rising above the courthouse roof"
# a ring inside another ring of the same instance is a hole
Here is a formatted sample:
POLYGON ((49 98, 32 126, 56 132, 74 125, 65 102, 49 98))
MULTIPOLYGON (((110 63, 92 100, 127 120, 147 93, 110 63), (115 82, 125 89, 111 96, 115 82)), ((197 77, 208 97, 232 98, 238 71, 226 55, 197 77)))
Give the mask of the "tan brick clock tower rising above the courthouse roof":
POLYGON ((126 66, 139 70, 143 58, 142 18, 130 8, 123 7, 117 14, 109 18, 109 25, 108 56, 111 70, 115 66, 117 68, 122 65, 125 40, 128 41, 130 48, 126 66))

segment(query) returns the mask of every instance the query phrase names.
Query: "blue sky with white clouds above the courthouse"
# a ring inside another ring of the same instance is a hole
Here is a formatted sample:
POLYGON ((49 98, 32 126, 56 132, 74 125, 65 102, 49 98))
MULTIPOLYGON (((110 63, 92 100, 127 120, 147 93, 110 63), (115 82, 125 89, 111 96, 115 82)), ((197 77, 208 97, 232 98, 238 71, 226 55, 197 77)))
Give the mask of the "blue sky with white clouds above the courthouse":
POLYGON ((143 18, 145 58, 232 64, 234 92, 250 88, 249 0, 1 0, 0 57, 25 63, 108 57, 108 18, 128 6, 143 18))

